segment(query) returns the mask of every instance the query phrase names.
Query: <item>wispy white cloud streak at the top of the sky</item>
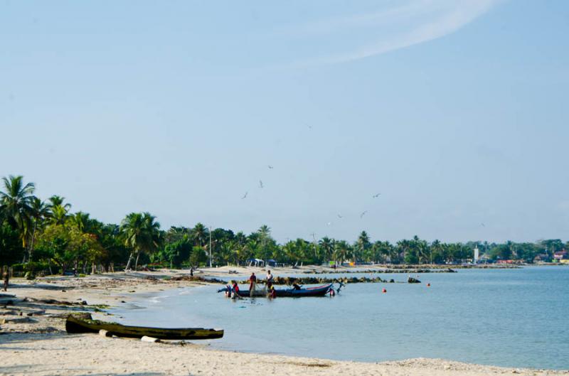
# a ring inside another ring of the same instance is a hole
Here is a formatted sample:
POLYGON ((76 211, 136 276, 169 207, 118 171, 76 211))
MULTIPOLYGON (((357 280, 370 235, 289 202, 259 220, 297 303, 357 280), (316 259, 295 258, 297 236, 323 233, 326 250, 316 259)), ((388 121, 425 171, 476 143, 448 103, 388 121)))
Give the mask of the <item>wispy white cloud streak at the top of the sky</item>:
MULTIPOLYGON (((454 33, 503 0, 415 0, 392 9, 315 21, 281 33, 297 38, 335 38, 338 50, 297 65, 342 63, 388 53, 454 33), (358 35, 360 38, 353 38, 358 35), (365 40, 357 45, 353 41, 365 40)), ((334 43, 336 47, 336 43, 334 43)))

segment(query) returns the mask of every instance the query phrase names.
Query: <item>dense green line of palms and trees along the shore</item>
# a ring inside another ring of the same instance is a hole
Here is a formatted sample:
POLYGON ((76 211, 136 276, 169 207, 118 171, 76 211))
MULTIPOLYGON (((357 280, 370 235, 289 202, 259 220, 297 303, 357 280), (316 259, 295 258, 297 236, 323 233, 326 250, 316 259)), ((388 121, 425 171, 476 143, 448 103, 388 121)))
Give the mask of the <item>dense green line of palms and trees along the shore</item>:
POLYGON ((198 267, 241 264, 248 259, 274 259, 283 264, 323 262, 374 262, 390 264, 445 264, 472 259, 479 248, 491 260, 515 259, 533 262, 537 256, 549 261, 554 252, 569 249, 561 240, 535 243, 427 242, 418 237, 372 242, 365 231, 356 242, 323 237, 301 238, 278 244, 266 225, 245 235, 201 223, 194 227, 161 230, 150 213, 130 213, 119 225, 105 224, 88 213, 72 213, 65 198, 53 195, 41 200, 35 185, 22 176, 3 178, 0 190, 0 265, 13 265, 21 272, 79 273, 137 269, 141 264, 165 267, 198 267))

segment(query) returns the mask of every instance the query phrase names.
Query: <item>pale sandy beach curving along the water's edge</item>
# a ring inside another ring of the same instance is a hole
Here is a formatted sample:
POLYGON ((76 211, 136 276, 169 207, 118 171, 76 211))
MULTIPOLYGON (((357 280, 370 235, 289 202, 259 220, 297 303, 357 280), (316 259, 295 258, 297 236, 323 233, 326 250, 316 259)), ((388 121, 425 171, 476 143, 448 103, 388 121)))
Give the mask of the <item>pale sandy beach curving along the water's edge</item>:
MULTIPOLYGON (((245 276, 253 268, 217 268, 199 276, 245 276), (235 274, 235 272, 237 272, 235 274)), ((261 273, 257 269, 257 273, 261 273)), ((302 272, 280 270, 285 272, 302 272)), ((211 350, 199 341, 144 343, 96 334, 68 335, 65 316, 128 304, 134 293, 203 284, 166 277, 185 272, 110 273, 84 278, 12 280, 0 304, 0 375, 569 375, 569 371, 471 365, 438 359, 367 363, 211 350), (13 304, 7 304, 9 301, 13 304), (64 304, 61 304, 61 303, 64 304)))

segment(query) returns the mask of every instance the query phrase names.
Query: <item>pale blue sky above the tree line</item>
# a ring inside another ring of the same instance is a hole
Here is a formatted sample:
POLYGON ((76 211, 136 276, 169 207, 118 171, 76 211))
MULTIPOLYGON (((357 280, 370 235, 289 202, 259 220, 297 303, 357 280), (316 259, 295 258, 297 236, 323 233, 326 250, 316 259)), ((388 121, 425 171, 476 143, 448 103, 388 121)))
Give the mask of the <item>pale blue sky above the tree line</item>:
POLYGON ((0 0, 0 176, 105 222, 567 239, 568 20, 562 0, 0 0))

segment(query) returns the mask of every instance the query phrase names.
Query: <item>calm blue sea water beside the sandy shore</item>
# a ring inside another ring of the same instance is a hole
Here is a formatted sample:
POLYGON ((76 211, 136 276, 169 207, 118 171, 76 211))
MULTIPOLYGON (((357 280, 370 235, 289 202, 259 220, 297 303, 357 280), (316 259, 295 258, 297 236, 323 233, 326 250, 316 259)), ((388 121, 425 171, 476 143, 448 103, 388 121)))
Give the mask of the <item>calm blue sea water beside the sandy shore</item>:
POLYGON ((112 313, 129 324, 224 328, 223 339, 207 342, 226 350, 569 369, 569 267, 419 278, 422 284, 349 284, 334 298, 311 299, 233 301, 216 294, 217 286, 181 288, 141 295, 112 313))

